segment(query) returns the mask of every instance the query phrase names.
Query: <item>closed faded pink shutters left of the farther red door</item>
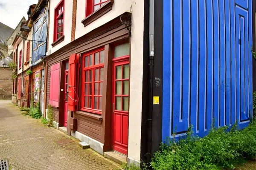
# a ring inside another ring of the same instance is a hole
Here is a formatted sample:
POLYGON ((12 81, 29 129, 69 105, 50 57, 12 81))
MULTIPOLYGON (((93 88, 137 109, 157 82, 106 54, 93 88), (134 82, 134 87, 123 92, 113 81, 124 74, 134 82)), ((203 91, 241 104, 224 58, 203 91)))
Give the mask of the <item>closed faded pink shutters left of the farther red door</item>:
POLYGON ((49 104, 59 106, 60 63, 51 66, 49 104))

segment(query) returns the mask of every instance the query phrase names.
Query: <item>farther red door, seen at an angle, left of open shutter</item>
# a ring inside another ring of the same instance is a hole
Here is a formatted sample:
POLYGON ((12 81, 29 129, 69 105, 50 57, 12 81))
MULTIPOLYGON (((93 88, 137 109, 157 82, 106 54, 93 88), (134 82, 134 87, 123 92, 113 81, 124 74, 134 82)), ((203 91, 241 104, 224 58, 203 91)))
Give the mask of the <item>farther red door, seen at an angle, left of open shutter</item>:
POLYGON ((64 99, 64 126, 67 127, 67 104, 68 104, 68 67, 69 63, 65 63, 65 86, 64 86, 64 93, 65 93, 65 99, 64 99))

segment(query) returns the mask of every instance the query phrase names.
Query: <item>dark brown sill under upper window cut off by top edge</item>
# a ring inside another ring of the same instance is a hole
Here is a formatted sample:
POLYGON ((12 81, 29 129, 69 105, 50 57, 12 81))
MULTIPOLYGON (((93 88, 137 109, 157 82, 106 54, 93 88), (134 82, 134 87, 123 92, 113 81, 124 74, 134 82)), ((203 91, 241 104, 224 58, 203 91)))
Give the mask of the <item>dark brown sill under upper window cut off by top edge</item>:
POLYGON ((104 14, 108 13, 108 11, 111 11, 113 3, 114 0, 109 0, 107 3, 105 3, 104 6, 100 7, 97 11, 94 11, 89 16, 84 18, 84 20, 82 20, 81 23, 84 24, 84 27, 88 26, 90 23, 97 20, 99 17, 102 17, 104 14))

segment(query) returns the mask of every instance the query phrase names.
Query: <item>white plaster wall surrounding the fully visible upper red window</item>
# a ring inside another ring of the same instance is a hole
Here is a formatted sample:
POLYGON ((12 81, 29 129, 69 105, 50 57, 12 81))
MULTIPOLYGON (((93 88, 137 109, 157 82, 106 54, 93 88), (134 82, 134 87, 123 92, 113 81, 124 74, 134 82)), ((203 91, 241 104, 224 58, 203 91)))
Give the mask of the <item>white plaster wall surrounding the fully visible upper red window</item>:
POLYGON ((50 1, 50 20, 49 20, 49 43, 48 49, 51 54, 64 45, 71 42, 71 26, 72 26, 72 11, 73 11, 73 0, 64 0, 64 41, 60 42, 55 47, 52 47, 53 33, 54 33, 54 8, 58 5, 61 0, 50 1))

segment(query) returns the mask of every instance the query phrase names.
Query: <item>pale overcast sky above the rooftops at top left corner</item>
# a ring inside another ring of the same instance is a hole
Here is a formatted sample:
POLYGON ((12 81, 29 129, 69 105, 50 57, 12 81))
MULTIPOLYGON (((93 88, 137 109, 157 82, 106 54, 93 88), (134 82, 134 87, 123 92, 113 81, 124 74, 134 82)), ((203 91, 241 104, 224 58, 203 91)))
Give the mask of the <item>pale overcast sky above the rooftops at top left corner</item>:
POLYGON ((38 0, 0 0, 0 22, 15 29, 21 18, 28 19, 29 6, 38 0))

